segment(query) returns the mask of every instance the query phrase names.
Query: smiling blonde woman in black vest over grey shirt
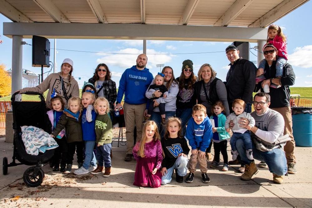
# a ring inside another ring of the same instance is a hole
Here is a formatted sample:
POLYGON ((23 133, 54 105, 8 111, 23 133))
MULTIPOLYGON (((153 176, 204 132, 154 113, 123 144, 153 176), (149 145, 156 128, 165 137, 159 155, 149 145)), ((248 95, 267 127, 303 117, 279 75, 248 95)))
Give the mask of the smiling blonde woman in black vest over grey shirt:
MULTIPOLYGON (((222 80, 218 79, 217 72, 212 69, 210 64, 203 64, 198 71, 198 82, 194 84, 197 104, 206 107, 208 117, 211 116, 211 107, 220 100, 225 107, 225 115, 230 115, 229 104, 227 102, 227 89, 222 80)), ((211 146, 206 150, 207 160, 211 160, 211 146)), ((211 166, 210 166, 211 167, 211 166)))

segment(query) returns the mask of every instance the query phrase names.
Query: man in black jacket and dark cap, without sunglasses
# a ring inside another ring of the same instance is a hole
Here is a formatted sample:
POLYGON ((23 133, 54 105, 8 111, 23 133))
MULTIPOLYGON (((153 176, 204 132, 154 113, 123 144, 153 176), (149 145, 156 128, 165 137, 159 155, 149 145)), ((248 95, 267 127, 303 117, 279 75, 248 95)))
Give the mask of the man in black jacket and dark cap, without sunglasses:
POLYGON ((252 92, 256 83, 257 67, 249 60, 239 57, 239 51, 235 46, 227 46, 225 49, 230 70, 227 72, 227 101, 230 113, 235 99, 242 99, 246 103, 245 111, 251 113, 252 92))

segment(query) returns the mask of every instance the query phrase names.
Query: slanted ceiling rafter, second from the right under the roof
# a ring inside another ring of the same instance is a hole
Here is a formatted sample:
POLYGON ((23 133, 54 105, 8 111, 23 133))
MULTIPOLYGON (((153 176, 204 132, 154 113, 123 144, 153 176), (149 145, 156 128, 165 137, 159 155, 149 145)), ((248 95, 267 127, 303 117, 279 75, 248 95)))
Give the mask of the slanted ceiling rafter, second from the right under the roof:
POLYGON ((213 26, 228 26, 253 0, 236 0, 213 26))

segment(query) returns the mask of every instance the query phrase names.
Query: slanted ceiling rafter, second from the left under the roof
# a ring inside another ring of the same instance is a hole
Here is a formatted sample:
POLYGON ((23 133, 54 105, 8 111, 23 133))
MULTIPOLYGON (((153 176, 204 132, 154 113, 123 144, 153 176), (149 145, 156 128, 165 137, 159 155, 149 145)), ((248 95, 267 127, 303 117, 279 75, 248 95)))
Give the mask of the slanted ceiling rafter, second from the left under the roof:
POLYGON ((43 11, 45 11, 55 22, 70 23, 65 15, 50 0, 33 0, 43 11))

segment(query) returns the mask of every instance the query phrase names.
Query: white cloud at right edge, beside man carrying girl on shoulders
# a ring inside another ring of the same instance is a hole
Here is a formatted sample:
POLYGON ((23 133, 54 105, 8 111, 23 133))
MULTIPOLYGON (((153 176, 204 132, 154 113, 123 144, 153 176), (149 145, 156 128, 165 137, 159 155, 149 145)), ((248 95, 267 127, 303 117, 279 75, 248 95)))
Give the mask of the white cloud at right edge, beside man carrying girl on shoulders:
POLYGON ((293 66, 299 66, 302 68, 312 67, 312 45, 307 45, 303 47, 296 47, 294 53, 288 56, 288 61, 293 66))

